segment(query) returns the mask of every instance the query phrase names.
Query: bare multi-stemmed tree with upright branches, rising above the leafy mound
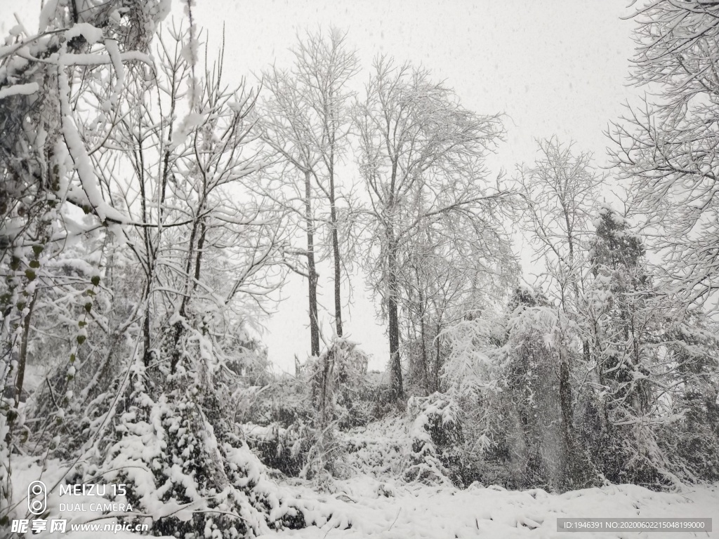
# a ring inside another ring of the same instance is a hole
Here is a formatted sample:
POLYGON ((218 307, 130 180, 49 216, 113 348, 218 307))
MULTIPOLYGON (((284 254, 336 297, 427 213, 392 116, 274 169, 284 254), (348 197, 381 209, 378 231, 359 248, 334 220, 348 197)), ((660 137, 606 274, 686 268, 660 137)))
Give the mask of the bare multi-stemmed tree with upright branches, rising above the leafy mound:
POLYGON ((142 223, 124 235, 145 272, 145 365, 162 342, 157 329, 168 325, 175 372, 186 355, 183 339, 208 323, 203 317, 242 318, 280 285, 269 274, 279 263, 284 224, 249 186, 263 166, 249 119, 255 93, 244 82, 226 88, 222 50, 191 82, 183 54, 190 31, 171 34, 157 47, 158 95, 147 98, 145 78, 138 78, 114 144, 93 159, 106 198, 142 223), (177 121, 179 111, 187 113, 177 121), (125 168, 132 170, 127 180, 118 177, 125 168))

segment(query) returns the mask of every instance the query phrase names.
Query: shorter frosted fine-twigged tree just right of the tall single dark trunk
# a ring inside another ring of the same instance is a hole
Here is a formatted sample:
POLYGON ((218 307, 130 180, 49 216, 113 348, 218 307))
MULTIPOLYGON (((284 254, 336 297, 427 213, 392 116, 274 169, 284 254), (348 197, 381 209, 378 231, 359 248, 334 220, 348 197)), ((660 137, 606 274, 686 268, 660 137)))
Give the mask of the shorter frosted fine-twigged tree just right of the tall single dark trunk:
POLYGON ((500 236, 480 233, 461 213, 427 219, 406 238, 399 281, 407 385, 430 394, 442 389, 446 328, 491 310, 513 285, 516 267, 496 257, 505 249, 500 236))

